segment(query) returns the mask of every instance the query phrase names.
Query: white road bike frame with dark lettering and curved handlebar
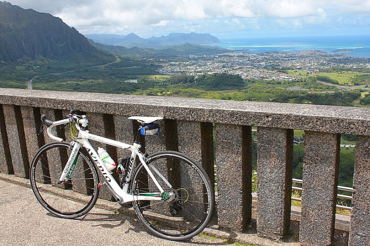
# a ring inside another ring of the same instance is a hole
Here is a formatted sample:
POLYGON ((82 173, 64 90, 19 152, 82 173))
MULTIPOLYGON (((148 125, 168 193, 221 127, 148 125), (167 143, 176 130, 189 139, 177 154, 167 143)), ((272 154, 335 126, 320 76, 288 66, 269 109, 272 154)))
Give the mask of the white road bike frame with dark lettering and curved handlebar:
MULTIPOLYGON (((83 123, 84 120, 86 120, 86 124, 87 124, 87 119, 80 119, 79 122, 83 123)), ((53 122, 53 124, 50 127, 48 127, 48 130, 47 130, 49 137, 58 142, 64 142, 62 138, 58 138, 53 135, 52 128, 55 126, 68 124, 72 121, 73 119, 67 118, 67 119, 62 119, 62 120, 53 122)), ((129 145, 129 144, 125 144, 125 143, 122 143, 116 140, 90 134, 89 131, 87 130, 81 130, 78 123, 76 123, 76 128, 79 131, 79 135, 76 141, 73 142, 72 152, 69 155, 67 164, 65 165, 65 168, 58 182, 67 181, 67 179, 70 177, 70 175, 73 173, 73 170, 75 169, 77 157, 78 157, 78 154, 77 154, 78 151, 80 150, 80 148, 85 147, 88 153, 90 154, 90 156, 95 161, 95 164, 98 167, 99 171, 104 176, 105 178, 104 183, 107 184, 108 190, 112 193, 113 196, 115 196, 116 200, 119 203, 125 203, 125 202, 134 201, 134 200, 163 200, 164 199, 163 197, 167 196, 163 188, 158 183, 157 179, 154 177, 152 171, 146 164, 143 154, 139 151, 139 148, 141 147, 139 144, 134 143, 133 145, 129 145), (114 179, 112 174, 110 174, 110 172, 106 169, 105 165, 103 164, 103 161, 101 160, 101 158, 99 157, 99 155, 97 154, 93 146, 90 144, 89 139, 94 140, 96 142, 105 143, 108 145, 112 145, 118 148, 127 149, 131 151, 130 164, 129 164, 128 170, 127 171, 125 170, 126 180, 125 180, 125 184, 122 189, 120 185, 117 183, 117 181, 114 179), (148 195, 136 195, 136 194, 130 194, 128 192, 129 184, 130 184, 132 173, 133 173, 132 171, 133 171, 134 161, 136 157, 139 157, 140 162, 142 163, 145 170, 147 171, 147 173, 149 174, 149 176, 151 177, 151 179, 153 180, 153 182, 158 187, 161 193, 148 193, 148 195), (156 196, 160 194, 161 196, 156 196)), ((172 185, 166 180, 166 178, 153 165, 149 164, 149 166, 159 175, 159 177, 161 177, 161 179, 170 188, 172 188, 172 185)))

